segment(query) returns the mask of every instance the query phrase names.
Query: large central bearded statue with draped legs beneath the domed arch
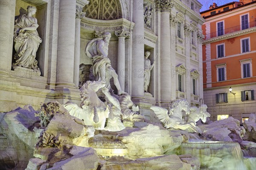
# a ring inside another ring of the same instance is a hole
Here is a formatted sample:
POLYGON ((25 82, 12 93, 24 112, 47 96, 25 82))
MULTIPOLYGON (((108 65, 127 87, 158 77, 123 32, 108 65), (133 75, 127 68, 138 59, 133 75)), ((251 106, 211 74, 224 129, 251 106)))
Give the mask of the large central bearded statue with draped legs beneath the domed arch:
POLYGON ((118 91, 117 94, 125 94, 120 87, 116 71, 112 68, 111 61, 108 58, 108 45, 111 34, 106 32, 102 37, 94 38, 88 42, 85 48, 85 54, 93 59, 93 75, 96 77, 96 81, 106 81, 108 90, 111 88, 110 79, 113 78, 114 85, 118 91))

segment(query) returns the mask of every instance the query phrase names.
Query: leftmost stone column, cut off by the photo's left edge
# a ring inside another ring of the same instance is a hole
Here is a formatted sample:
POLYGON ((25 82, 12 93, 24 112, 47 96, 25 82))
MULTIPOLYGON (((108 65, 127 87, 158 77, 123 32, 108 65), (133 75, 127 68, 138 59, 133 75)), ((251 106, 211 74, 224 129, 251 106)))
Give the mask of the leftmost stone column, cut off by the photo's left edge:
POLYGON ((0 1, 0 68, 4 74, 12 67, 15 3, 15 0, 0 1))

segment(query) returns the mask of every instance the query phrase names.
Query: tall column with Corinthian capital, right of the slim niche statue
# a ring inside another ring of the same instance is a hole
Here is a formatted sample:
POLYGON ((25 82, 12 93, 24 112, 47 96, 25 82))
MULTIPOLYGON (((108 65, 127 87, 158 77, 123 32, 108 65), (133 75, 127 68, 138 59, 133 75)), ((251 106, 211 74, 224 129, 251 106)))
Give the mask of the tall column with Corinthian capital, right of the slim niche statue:
POLYGON ((170 10, 173 4, 170 0, 162 0, 161 7, 161 105, 169 106, 171 102, 171 35, 170 35, 170 10), (164 73, 164 74, 163 74, 164 73))

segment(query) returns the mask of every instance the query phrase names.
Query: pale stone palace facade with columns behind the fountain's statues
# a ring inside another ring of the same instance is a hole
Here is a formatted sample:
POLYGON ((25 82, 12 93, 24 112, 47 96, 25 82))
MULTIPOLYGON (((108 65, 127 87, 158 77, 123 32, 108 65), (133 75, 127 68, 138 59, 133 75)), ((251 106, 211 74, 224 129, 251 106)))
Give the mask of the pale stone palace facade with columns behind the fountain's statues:
POLYGON ((85 47, 103 32, 112 35, 108 58, 121 88, 145 109, 145 116, 151 116, 151 105, 168 107, 174 99, 200 104, 204 38, 200 8, 197 0, 1 2, 0 111, 27 104, 38 109, 41 102, 54 100, 80 103, 79 83, 89 79, 92 65, 85 47), (40 72, 12 65, 14 22, 27 6, 37 8, 40 72), (151 63, 155 60, 147 93, 145 51, 151 52, 151 63))

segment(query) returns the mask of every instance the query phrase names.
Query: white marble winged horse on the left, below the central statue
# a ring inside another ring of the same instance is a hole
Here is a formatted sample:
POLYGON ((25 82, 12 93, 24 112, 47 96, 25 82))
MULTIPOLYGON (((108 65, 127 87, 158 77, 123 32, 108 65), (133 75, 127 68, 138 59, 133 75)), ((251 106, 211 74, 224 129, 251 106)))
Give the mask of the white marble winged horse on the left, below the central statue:
POLYGON ((64 104, 64 108, 70 113, 81 120, 84 120, 85 125, 93 126, 96 129, 104 129, 106 118, 109 115, 109 105, 105 105, 96 92, 105 87, 105 82, 102 81, 87 81, 80 88, 81 107, 72 102, 64 104))

